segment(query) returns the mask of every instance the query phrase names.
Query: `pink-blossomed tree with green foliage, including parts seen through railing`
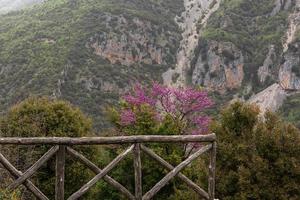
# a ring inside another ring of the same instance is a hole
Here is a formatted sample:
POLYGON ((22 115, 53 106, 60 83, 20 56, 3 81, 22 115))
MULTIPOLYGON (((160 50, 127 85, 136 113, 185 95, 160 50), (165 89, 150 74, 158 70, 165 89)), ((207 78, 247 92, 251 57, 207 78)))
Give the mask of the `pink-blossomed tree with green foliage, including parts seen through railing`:
MULTIPOLYGON (((213 102, 207 92, 201 89, 175 88, 158 83, 143 86, 137 83, 122 96, 120 105, 112 108, 109 114, 117 127, 118 135, 198 135, 208 133, 210 118, 205 114, 205 110, 212 105, 213 102)), ((198 147, 195 144, 147 144, 147 146, 174 166, 198 147)), ((113 153, 112 157, 116 156, 117 154, 113 153)), ((146 191, 164 176, 165 169, 147 156, 142 157, 142 163, 146 191)), ((131 165, 132 160, 123 162, 118 168, 121 171, 119 174, 128 175, 131 165)), ((192 165, 185 169, 185 174, 197 180, 201 173, 194 169, 199 163, 194 162, 192 165)), ((131 177, 134 175, 131 174, 131 177)), ((128 177, 123 177, 122 180, 128 180, 124 183, 126 186, 134 182, 128 177)), ((157 199, 169 199, 175 191, 187 190, 185 184, 174 179, 162 189, 157 199)))

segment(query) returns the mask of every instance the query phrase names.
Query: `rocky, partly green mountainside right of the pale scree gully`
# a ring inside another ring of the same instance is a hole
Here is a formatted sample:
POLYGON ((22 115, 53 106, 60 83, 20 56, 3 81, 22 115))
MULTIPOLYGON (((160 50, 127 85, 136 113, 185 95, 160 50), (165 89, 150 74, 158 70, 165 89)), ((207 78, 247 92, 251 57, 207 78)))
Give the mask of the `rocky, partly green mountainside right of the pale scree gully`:
POLYGON ((299 1, 214 3, 219 5, 209 7, 213 12, 206 23, 197 24, 193 41, 198 45, 178 77, 233 98, 250 98, 263 112, 278 110, 300 89, 299 1))

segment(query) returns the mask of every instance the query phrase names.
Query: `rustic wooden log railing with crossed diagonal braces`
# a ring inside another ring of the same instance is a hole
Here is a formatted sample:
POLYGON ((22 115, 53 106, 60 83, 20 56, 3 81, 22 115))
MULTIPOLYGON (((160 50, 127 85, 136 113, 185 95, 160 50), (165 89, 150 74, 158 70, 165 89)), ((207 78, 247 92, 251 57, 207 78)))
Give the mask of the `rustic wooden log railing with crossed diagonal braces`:
POLYGON ((56 156, 56 184, 55 199, 64 200, 64 181, 65 181, 65 157, 66 154, 78 159, 92 170, 96 176, 88 183, 82 186, 77 192, 73 193, 68 200, 79 199, 100 179, 104 179, 119 192, 132 200, 148 200, 152 199, 160 189, 177 176, 181 181, 186 183, 189 188, 193 189, 199 199, 213 200, 215 197, 215 163, 216 163, 216 136, 214 134, 199 136, 121 136, 121 137, 92 137, 92 138, 0 138, 0 145, 53 145, 34 165, 27 171, 20 172, 16 169, 7 158, 0 152, 0 163, 15 178, 15 181, 8 187, 15 190, 20 185, 24 185, 36 198, 48 200, 48 198, 29 180, 32 175, 47 162, 51 157, 56 156), (147 148, 145 143, 202 143, 201 148, 197 149, 193 154, 186 158, 178 166, 174 167, 165 161, 162 157, 147 148), (100 169, 86 157, 75 151, 71 146, 74 145, 105 145, 105 144, 130 144, 131 146, 118 155, 104 169, 100 169), (208 192, 192 182, 185 175, 180 173, 192 161, 198 158, 204 152, 210 152, 208 192), (153 158, 164 168, 170 172, 161 179, 152 189, 143 194, 142 191, 142 163, 141 152, 153 158), (128 191, 123 185, 108 176, 108 173, 118 165, 128 154, 134 155, 135 170, 135 194, 128 191))

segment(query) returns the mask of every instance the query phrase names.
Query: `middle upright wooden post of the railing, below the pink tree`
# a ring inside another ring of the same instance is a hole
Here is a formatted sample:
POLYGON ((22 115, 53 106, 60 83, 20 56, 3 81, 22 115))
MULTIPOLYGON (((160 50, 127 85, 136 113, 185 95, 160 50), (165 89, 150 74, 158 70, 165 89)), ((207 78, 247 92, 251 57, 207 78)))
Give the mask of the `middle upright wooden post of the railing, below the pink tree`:
POLYGON ((141 163, 141 144, 136 143, 134 145, 134 177, 135 177, 135 198, 136 200, 142 200, 142 163, 141 163))

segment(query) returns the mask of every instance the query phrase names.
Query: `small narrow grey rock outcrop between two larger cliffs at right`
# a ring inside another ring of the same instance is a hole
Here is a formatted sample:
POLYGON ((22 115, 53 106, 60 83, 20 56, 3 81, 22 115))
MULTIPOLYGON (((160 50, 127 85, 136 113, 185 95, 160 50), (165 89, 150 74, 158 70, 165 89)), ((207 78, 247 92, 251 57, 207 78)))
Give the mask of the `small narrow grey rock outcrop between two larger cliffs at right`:
POLYGON ((267 79, 267 77, 272 76, 271 70, 274 68, 274 65, 276 64, 276 52, 275 52, 275 46, 270 45, 268 55, 264 61, 264 64, 259 67, 257 71, 257 76, 259 77, 259 81, 261 83, 264 83, 267 79))

